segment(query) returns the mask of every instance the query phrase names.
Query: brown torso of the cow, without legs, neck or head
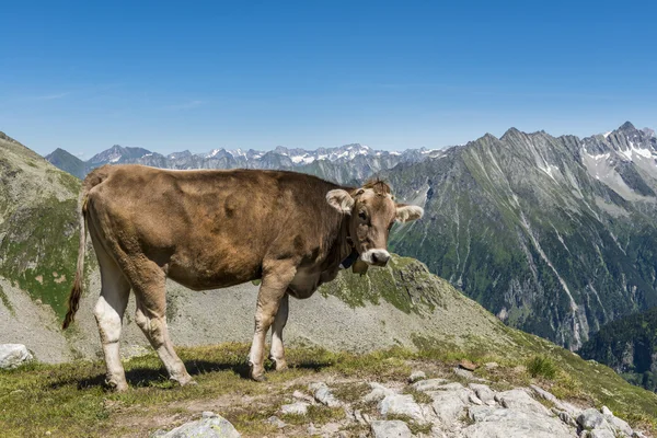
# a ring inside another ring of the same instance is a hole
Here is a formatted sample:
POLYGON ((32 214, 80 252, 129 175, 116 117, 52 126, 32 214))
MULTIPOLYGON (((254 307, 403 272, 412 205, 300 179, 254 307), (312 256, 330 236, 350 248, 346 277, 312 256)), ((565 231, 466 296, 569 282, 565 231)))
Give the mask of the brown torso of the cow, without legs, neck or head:
POLYGON ((258 278, 267 256, 321 252, 339 223, 324 200, 336 186, 293 172, 112 165, 85 186, 92 237, 114 257, 146 256, 194 289, 258 278))

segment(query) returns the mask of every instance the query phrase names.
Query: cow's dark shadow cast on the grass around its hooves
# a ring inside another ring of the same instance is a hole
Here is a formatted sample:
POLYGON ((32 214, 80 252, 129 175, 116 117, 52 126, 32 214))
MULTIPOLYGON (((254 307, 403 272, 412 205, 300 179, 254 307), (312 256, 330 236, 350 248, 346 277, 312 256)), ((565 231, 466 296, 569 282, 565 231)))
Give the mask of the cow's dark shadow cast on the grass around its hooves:
MULTIPOLYGON (((222 361, 209 361, 209 360, 184 360, 185 368, 187 372, 192 377, 210 373, 210 372, 221 372, 221 371, 232 371, 238 374, 242 379, 250 379, 249 376, 249 365, 244 362, 222 362, 222 361)), ((290 364, 290 369, 302 369, 302 370, 312 370, 315 372, 321 371, 324 368, 331 367, 332 364, 326 361, 300 361, 298 364, 290 364)), ((94 367, 97 368, 97 367, 94 367)), ((265 369, 267 372, 276 372, 274 369, 274 364, 272 361, 266 362, 265 369)), ((95 371, 95 370, 94 370, 95 371)), ((148 368, 148 367, 137 367, 130 368, 126 370, 126 380, 128 385, 132 388, 148 388, 148 387, 160 387, 163 384, 171 382, 172 385, 175 385, 174 382, 170 381, 169 376, 166 373, 166 369, 164 367, 161 368, 148 368)), ((83 378, 74 378, 67 377, 62 379, 58 379, 49 384, 49 388, 55 390, 65 385, 74 384, 78 390, 94 388, 94 387, 103 387, 107 389, 105 383, 105 374, 96 373, 95 376, 89 376, 83 378)))

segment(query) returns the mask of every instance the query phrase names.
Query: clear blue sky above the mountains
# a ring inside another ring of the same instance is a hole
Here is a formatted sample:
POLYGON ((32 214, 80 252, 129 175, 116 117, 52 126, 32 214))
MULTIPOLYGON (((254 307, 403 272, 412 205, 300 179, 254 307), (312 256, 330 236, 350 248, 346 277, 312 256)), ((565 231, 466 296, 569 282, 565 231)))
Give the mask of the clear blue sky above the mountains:
POLYGON ((0 130, 44 154, 657 127, 654 2, 25 0, 0 19, 0 130))

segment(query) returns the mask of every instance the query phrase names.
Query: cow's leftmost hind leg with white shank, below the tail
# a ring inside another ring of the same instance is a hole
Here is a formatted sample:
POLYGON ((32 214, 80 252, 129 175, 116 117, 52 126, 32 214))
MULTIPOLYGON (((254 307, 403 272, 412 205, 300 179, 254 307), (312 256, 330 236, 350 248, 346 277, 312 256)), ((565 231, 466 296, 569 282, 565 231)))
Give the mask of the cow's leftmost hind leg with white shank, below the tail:
POLYGON ((102 249, 96 247, 96 255, 101 267, 102 289, 93 313, 99 324, 105 365, 107 366, 105 382, 110 388, 125 391, 128 389, 128 383, 120 362, 119 338, 123 315, 130 295, 130 285, 114 260, 102 249))

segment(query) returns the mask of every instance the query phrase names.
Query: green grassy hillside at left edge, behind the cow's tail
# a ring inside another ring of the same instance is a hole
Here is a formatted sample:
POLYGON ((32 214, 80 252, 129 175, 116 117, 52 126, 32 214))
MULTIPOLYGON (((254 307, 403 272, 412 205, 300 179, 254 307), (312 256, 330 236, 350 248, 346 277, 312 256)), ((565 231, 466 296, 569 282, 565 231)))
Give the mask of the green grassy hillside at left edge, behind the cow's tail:
POLYGON ((0 132, 0 276, 62 315, 78 254, 80 182, 0 132))

